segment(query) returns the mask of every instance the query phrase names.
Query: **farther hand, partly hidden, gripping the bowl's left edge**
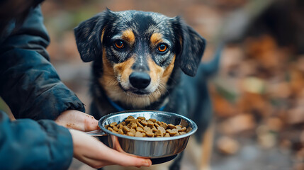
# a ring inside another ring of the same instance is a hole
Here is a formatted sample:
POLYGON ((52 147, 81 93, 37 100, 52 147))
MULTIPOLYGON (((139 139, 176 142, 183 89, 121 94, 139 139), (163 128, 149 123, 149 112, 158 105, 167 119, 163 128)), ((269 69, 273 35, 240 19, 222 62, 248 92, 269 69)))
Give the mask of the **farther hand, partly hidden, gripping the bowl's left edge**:
POLYGON ((55 122, 65 128, 72 128, 85 132, 99 129, 98 120, 91 115, 76 110, 62 112, 55 122))

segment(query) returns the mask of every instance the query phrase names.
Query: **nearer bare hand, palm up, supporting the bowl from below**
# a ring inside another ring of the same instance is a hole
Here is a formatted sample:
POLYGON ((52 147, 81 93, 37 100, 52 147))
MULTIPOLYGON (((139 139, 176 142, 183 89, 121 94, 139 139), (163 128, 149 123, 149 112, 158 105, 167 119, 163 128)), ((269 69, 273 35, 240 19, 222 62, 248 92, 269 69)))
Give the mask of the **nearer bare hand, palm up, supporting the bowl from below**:
POLYGON ((72 134, 74 158, 93 168, 101 168, 108 165, 120 166, 150 166, 150 159, 133 157, 111 149, 98 141, 95 137, 86 135, 78 130, 69 130, 72 134))

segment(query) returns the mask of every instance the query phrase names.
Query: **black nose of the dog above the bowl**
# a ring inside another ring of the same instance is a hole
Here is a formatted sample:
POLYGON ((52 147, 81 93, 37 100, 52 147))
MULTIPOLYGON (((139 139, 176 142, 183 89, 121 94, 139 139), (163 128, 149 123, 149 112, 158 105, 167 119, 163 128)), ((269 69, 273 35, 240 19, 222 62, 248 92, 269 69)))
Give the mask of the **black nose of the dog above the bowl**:
POLYGON ((130 74, 129 81, 133 87, 137 89, 145 89, 147 86, 149 86, 151 78, 147 73, 133 72, 130 74))

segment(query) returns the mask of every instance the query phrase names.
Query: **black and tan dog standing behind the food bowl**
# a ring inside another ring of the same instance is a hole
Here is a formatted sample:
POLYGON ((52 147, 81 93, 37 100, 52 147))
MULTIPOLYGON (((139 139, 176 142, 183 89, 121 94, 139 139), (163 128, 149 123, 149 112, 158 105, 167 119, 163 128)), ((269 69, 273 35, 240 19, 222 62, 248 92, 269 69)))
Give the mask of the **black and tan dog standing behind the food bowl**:
MULTIPOLYGON (((201 63, 206 40, 181 17, 107 9, 80 23, 74 35, 81 60, 93 61, 91 115, 99 119, 126 110, 185 115, 198 125, 197 141, 208 140, 210 150, 212 136, 203 138, 212 121, 207 79, 219 59, 201 63)), ((181 155, 166 169, 180 169, 181 155)))

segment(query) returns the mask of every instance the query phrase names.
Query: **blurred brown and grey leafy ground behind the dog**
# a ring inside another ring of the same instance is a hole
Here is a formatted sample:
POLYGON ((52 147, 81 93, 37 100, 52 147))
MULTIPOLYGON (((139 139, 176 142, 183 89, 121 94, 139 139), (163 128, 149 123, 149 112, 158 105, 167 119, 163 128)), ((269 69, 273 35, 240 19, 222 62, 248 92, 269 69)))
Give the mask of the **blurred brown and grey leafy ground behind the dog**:
MULTIPOLYGON (((220 40, 228 40, 209 82, 212 169, 304 169, 304 1, 45 1, 51 62, 87 113, 91 64, 81 61, 73 28, 106 8, 181 16, 208 42, 203 62, 212 59, 220 40)), ((9 113, 3 101, 0 109, 9 113)), ((196 169, 191 159, 183 162, 182 169, 196 169)), ((90 168, 74 160, 70 169, 90 168)))

